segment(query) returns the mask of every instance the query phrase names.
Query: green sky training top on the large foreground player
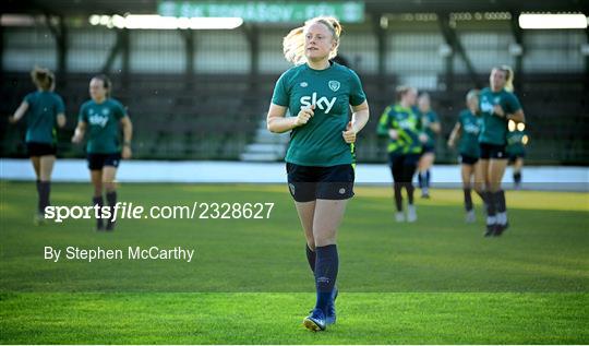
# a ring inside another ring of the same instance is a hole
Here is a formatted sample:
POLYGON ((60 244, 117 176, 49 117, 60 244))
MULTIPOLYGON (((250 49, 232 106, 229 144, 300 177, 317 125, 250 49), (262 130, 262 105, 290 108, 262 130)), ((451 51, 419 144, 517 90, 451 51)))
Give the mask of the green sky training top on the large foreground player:
POLYGON ((352 146, 341 136, 349 120, 349 105, 366 99, 362 83, 352 70, 330 62, 325 70, 313 70, 306 63, 283 73, 272 103, 288 107, 296 117, 301 107, 315 105, 309 122, 292 129, 285 160, 302 166, 352 164, 352 146))

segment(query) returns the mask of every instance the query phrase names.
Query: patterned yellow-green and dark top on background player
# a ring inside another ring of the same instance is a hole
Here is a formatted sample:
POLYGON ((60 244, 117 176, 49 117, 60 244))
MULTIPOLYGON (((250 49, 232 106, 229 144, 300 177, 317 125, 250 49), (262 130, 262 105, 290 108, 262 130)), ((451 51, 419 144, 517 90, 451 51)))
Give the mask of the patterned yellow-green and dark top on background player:
POLYGON ((390 105, 385 108, 376 132, 380 135, 388 136, 388 130, 394 129, 398 132, 398 138, 389 138, 387 151, 389 154, 419 154, 422 144, 419 135, 422 132, 421 119, 411 108, 405 108, 400 105, 390 105))

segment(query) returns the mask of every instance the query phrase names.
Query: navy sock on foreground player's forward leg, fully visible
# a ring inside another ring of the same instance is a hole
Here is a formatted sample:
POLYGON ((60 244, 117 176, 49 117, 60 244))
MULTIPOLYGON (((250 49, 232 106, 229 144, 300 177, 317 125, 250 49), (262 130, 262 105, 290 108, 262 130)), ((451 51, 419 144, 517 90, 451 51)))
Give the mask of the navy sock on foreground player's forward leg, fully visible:
POLYGON ((337 246, 315 248, 315 287, 317 289, 316 309, 322 309, 325 313, 327 306, 332 301, 332 291, 337 278, 339 267, 339 258, 337 255, 337 246))

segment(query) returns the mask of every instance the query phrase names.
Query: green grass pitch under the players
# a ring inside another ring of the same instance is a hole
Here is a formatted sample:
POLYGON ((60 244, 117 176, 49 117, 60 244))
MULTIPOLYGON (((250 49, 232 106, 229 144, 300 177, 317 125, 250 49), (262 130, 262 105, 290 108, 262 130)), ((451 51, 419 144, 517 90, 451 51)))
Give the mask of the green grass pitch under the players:
MULTIPOLYGON (((52 186, 88 205, 89 184, 52 186)), ((314 303, 304 238, 284 186, 124 184, 144 206, 272 202, 268 219, 122 219, 33 226, 33 183, 0 182, 3 344, 587 344, 589 196, 507 192, 512 228, 483 238, 461 191, 396 224, 392 191, 359 187, 340 227, 338 322, 302 329, 314 303), (44 247, 195 250, 182 261, 44 260, 44 247)))

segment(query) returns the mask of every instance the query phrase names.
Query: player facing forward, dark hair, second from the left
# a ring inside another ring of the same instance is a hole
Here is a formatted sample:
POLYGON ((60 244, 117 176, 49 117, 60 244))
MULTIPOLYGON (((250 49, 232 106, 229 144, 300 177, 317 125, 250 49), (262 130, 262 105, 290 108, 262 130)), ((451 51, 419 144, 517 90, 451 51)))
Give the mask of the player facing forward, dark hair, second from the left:
MULTIPOLYGON (((121 103, 110 97, 111 83, 106 75, 97 75, 91 80, 91 100, 80 108, 77 127, 72 138, 73 143, 80 143, 88 130, 86 153, 92 184, 94 186, 93 205, 100 208, 104 205, 103 188, 106 190, 107 203, 110 211, 117 204, 115 178, 117 167, 122 158, 131 157, 131 139, 133 126, 121 103), (119 132, 123 132, 122 155, 119 143, 119 132)), ((112 213, 111 213, 112 214, 112 213)), ((112 216, 112 215, 111 215, 112 216)), ((106 230, 113 230, 115 222, 110 217, 106 230)), ((103 218, 96 219, 96 230, 105 229, 103 218)))

